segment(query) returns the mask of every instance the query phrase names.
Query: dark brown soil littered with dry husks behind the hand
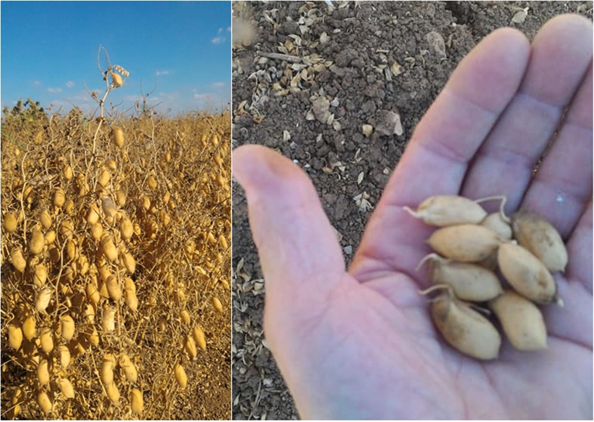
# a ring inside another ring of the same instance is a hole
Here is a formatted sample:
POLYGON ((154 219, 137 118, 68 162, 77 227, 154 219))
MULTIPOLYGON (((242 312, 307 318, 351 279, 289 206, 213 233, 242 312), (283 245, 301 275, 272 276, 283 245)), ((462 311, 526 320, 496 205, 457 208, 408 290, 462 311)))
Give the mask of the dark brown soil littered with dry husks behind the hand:
MULTIPOLYGON (((234 2, 233 147, 264 144, 307 172, 348 264, 458 62, 498 27, 532 40, 567 12, 592 19, 592 2, 234 2)), ((233 418, 299 418, 266 347, 263 276, 236 183, 233 268, 233 418)))

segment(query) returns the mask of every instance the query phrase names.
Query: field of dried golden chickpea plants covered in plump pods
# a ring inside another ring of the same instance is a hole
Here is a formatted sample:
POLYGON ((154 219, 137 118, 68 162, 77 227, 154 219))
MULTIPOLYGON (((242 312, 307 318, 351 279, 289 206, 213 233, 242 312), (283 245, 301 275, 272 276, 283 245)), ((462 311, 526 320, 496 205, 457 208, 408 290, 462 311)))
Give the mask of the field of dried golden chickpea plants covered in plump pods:
POLYGON ((230 115, 109 112, 106 61, 2 121, 2 418, 229 419, 230 115))

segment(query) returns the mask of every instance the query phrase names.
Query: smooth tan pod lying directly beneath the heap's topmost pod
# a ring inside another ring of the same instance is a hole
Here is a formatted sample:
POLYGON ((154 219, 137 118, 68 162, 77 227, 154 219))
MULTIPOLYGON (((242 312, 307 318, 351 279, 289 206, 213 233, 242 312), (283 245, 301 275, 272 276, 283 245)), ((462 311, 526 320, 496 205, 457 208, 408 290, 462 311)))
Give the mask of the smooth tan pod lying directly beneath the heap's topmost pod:
POLYGON ((501 240, 486 227, 460 224, 435 230, 428 243, 447 258, 460 262, 479 262, 495 251, 501 240))

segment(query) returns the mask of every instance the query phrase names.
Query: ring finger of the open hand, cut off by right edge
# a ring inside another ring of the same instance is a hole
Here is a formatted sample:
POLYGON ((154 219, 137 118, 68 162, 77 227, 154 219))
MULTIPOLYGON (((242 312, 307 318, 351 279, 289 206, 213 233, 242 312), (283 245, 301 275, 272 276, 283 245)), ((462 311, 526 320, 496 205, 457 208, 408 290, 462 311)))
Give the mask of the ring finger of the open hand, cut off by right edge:
POLYGON ((544 216, 565 238, 591 197, 592 62, 522 207, 544 216))

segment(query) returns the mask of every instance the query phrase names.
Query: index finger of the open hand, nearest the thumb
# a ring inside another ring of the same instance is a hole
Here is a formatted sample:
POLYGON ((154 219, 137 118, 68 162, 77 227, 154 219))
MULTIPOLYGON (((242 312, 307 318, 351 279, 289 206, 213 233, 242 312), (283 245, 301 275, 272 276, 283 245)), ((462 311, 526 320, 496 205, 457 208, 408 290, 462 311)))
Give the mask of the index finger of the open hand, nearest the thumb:
POLYGON ((402 206, 459 191, 469 160, 516 93, 528 57, 526 37, 500 29, 460 62, 396 166, 353 259, 353 274, 413 273, 428 228, 402 206))

